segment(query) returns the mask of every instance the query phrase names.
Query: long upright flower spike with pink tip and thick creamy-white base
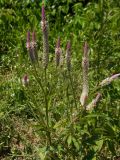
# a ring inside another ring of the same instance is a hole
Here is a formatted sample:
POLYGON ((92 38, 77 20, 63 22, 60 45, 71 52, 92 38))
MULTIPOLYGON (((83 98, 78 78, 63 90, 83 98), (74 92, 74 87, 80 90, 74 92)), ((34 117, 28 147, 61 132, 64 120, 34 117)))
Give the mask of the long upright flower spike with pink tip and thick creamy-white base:
POLYGON ((89 68, 89 47, 87 42, 84 43, 83 48, 83 58, 82 58, 82 72, 83 72, 83 89, 80 97, 80 102, 82 106, 86 106, 86 101, 88 98, 89 85, 88 85, 88 68, 89 68))

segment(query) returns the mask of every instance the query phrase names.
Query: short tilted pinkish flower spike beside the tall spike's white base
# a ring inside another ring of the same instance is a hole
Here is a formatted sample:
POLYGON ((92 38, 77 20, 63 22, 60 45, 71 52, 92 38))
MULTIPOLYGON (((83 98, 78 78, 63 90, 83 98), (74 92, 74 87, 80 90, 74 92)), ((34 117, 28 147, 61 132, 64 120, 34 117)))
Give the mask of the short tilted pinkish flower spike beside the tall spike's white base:
POLYGON ((100 100, 101 97, 102 97, 101 93, 98 93, 96 98, 93 99, 92 102, 86 106, 86 110, 87 111, 92 110, 97 105, 97 102, 100 100))

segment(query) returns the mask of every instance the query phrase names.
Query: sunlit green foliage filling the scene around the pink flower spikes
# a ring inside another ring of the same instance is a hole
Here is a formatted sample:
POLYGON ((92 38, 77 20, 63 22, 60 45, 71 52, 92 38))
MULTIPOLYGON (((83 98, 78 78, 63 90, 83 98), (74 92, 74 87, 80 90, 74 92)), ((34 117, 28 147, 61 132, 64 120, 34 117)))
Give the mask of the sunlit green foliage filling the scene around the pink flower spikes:
POLYGON ((79 107, 75 109, 66 69, 56 70, 53 65, 57 37, 61 37, 63 52, 70 39, 71 75, 80 106, 82 46, 87 40, 91 51, 91 101, 101 80, 120 72, 120 1, 45 1, 51 56, 47 84, 42 67, 37 72, 42 85, 50 92, 47 98, 53 144, 49 148, 46 148, 45 126, 41 124, 41 109, 43 113, 45 109, 40 80, 36 82, 26 50, 26 33, 35 30, 41 58, 41 6, 39 0, 0 1, 0 158, 102 160, 120 156, 120 81, 104 87, 96 109, 83 113, 79 107), (27 89, 21 84, 24 74, 30 79, 27 89))

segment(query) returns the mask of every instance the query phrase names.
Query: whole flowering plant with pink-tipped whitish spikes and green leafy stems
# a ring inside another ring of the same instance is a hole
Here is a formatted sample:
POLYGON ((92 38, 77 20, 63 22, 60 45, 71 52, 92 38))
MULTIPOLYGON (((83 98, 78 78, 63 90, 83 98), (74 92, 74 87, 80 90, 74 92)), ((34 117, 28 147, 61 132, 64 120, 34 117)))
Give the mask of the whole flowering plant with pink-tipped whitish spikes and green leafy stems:
MULTIPOLYGON (((43 143, 42 146, 43 148, 46 146, 43 157, 44 159, 48 157, 53 158, 56 155, 59 157, 59 154, 63 153, 61 153, 61 151, 56 151, 54 153, 53 151, 53 148, 59 145, 67 150, 68 154, 70 154, 73 159, 79 158, 78 153, 80 153, 80 155, 83 154, 83 157, 86 159, 86 155, 88 154, 86 150, 90 147, 87 142, 91 139, 93 134, 91 129, 93 119, 91 118, 92 120, 89 122, 87 118, 89 118, 90 114, 94 114, 94 108, 96 108, 95 112, 99 110, 99 107, 96 106, 101 97, 103 97, 100 93, 101 90, 97 91, 96 97, 88 103, 88 99, 91 99, 92 96, 92 94, 89 93, 90 82, 88 78, 90 47, 87 42, 84 42, 82 55, 82 84, 80 84, 80 77, 76 76, 79 74, 79 71, 76 72, 74 70, 74 64, 72 64, 71 69, 72 47, 70 41, 67 41, 65 48, 66 61, 63 67, 61 67, 60 70, 56 69, 56 67, 61 64, 62 49, 60 38, 57 39, 55 54, 53 54, 55 63, 52 64, 53 61, 49 63, 48 22, 46 21, 44 5, 42 6, 41 29, 43 37, 43 66, 39 66, 40 68, 34 66, 32 68, 35 79, 34 87, 36 87, 37 91, 35 91, 35 88, 33 92, 31 90, 29 91, 31 91, 31 93, 37 93, 31 94, 31 99, 33 99, 33 106, 36 106, 39 110, 36 116, 36 119, 38 119, 37 127, 39 126, 39 133, 42 132, 42 135, 44 135, 45 143, 43 143), (82 93, 80 94, 81 89, 82 93), (84 140, 88 141, 84 142, 84 140), (77 156, 74 156, 74 152, 77 152, 77 156)), ((31 61, 34 59, 38 60, 38 56, 35 52, 35 32, 32 33, 32 42, 30 42, 30 32, 28 32, 27 35, 27 50, 29 51, 30 59, 31 61)), ((110 84, 119 76, 120 73, 103 80, 98 88, 95 88, 95 91, 102 89, 103 86, 110 84)), ((26 86, 28 82, 28 76, 25 75, 22 83, 26 86)), ((94 125, 96 126, 96 124, 94 125)), ((100 137, 100 135, 98 137, 100 137)), ((62 156, 62 158, 60 157, 60 159, 64 159, 64 156, 62 156)))

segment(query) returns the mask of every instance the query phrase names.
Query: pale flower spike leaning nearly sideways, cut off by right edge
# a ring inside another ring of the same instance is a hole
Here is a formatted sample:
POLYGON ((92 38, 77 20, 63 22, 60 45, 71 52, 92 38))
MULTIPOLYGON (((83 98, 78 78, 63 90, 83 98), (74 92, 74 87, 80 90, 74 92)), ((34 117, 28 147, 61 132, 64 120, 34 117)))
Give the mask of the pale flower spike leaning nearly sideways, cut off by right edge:
POLYGON ((120 77, 120 73, 114 74, 113 76, 104 79, 99 85, 101 87, 106 86, 106 85, 110 84, 113 80, 117 79, 118 77, 120 77))

